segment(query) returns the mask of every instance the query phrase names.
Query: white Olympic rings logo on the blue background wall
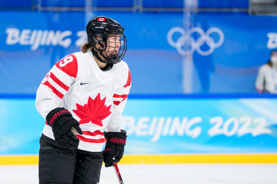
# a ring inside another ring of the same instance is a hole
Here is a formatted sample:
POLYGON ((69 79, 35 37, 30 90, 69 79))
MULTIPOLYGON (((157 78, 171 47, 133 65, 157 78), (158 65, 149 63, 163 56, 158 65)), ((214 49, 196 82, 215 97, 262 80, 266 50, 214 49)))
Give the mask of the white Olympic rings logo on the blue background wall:
POLYGON ((172 47, 177 49, 179 54, 183 56, 193 54, 194 51, 197 51, 202 56, 208 56, 212 54, 212 52, 214 52, 215 48, 218 48, 222 45, 224 41, 224 34, 217 27, 209 28, 206 33, 199 27, 193 27, 190 30, 188 30, 187 33, 181 27, 173 27, 167 33, 167 41, 172 47), (175 42, 173 41, 172 36, 176 32, 181 33, 181 36, 175 42), (200 36, 195 40, 192 37, 193 33, 199 33, 200 36), (217 42, 215 42, 214 39, 211 38, 210 35, 212 33, 217 33, 219 35, 219 40, 217 42), (206 43, 209 46, 209 49, 207 51, 201 50, 201 46, 204 43, 206 43), (189 47, 187 49, 184 49, 184 46, 186 44, 188 44, 189 47))

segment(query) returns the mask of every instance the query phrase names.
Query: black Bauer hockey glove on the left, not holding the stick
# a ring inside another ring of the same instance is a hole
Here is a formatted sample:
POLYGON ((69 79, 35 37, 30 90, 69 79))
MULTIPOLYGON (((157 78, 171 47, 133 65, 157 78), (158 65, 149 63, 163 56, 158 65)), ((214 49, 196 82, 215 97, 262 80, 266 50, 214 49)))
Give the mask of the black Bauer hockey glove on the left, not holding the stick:
POLYGON ((74 119, 71 113, 65 108, 56 108, 50 111, 46 116, 46 121, 54 133, 56 142, 62 148, 77 149, 79 145, 79 139, 72 131, 74 129, 83 134, 79 127, 79 122, 74 119))

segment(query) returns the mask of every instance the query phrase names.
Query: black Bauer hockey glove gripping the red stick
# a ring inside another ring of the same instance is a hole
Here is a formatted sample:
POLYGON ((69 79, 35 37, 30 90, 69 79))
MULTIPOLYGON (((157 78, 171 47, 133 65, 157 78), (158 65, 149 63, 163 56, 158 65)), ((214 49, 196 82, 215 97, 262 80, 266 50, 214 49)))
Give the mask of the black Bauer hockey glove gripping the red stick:
POLYGON ((125 130, 121 130, 121 132, 104 132, 104 136, 107 138, 107 142, 102 151, 103 161, 105 167, 111 167, 113 157, 116 159, 116 163, 122 159, 127 135, 125 130))

